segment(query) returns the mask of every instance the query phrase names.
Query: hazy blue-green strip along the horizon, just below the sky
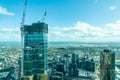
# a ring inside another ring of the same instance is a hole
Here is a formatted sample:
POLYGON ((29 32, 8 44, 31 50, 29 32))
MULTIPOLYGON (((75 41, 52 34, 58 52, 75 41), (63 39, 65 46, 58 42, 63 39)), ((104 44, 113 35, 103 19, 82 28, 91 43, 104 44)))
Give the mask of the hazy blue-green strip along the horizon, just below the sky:
MULTIPOLYGON (((48 42, 48 47, 67 47, 67 46, 119 46, 120 42, 48 42)), ((0 47, 20 48, 21 42, 0 42, 0 47)))

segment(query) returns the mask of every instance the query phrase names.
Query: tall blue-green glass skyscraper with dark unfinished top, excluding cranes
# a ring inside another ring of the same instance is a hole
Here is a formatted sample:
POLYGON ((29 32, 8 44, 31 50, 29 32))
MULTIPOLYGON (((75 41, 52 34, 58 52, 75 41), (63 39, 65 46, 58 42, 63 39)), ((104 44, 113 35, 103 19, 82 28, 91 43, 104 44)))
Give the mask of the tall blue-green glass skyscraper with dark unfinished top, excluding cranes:
POLYGON ((37 78, 47 69, 48 25, 37 22, 24 25, 21 31, 23 33, 22 73, 24 76, 34 75, 37 78))

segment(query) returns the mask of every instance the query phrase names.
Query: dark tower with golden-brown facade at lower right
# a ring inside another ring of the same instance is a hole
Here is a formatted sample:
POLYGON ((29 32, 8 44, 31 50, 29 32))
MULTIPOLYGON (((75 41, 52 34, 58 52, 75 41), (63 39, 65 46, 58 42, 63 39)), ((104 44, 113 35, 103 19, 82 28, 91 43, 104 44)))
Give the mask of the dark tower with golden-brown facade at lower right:
POLYGON ((115 80, 115 53, 108 49, 100 54, 100 80, 115 80))

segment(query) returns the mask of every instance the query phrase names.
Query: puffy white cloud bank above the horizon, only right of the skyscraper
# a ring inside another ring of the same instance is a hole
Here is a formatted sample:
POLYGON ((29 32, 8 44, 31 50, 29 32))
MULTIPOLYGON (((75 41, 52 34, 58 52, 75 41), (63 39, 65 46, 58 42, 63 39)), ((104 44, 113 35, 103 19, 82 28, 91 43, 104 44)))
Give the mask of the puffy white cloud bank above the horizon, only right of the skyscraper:
POLYGON ((119 41, 120 20, 104 27, 78 21, 74 26, 49 28, 50 41, 119 41))

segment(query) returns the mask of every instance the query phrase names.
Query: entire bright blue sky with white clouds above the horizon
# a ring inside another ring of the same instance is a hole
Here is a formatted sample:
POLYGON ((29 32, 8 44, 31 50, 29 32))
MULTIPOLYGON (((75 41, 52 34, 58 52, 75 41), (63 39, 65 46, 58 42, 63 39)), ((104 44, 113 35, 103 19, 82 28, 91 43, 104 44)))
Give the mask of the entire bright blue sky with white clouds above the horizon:
MULTIPOLYGON (((120 0, 28 0, 25 24, 49 25, 48 41, 120 41, 120 0)), ((20 41, 24 0, 0 0, 0 41, 20 41)))

